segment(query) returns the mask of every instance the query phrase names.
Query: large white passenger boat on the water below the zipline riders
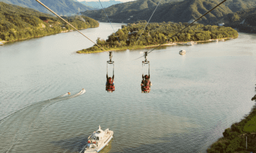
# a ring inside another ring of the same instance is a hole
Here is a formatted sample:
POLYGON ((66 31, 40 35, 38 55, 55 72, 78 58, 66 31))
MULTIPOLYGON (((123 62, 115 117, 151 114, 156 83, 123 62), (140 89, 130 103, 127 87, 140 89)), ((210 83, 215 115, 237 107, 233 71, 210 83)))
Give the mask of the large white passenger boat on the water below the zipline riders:
POLYGON ((113 138, 113 134, 114 132, 109 129, 102 131, 99 126, 99 129, 94 131, 93 134, 88 137, 88 144, 85 147, 84 153, 99 152, 108 145, 113 138))

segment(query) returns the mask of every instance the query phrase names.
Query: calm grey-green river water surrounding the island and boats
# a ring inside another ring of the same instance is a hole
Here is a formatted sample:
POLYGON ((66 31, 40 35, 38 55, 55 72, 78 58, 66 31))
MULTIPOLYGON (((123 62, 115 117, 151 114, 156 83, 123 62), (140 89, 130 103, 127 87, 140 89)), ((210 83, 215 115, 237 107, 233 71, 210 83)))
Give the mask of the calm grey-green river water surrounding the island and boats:
MULTIPOLYGON (((92 40, 113 33, 106 23, 82 32, 92 40)), ((133 60, 141 50, 113 53, 116 91, 108 93, 108 54, 76 54, 93 45, 77 32, 5 44, 0 152, 80 152, 99 125, 114 131, 102 152, 205 152, 255 105, 255 42, 256 35, 239 33, 156 50, 148 55, 149 94, 140 91, 143 59, 133 60), (58 97, 82 88, 85 94, 58 97)))

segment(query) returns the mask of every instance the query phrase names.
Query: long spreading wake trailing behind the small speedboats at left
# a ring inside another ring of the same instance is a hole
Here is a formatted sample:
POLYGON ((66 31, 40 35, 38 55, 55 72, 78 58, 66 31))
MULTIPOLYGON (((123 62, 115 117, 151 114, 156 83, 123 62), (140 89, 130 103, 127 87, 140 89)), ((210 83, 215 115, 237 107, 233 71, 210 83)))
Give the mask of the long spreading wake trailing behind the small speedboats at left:
POLYGON ((0 153, 11 152, 12 146, 19 142, 29 133, 32 129, 36 128, 40 124, 40 120, 44 118, 46 114, 45 108, 48 106, 64 101, 71 98, 76 98, 84 94, 86 91, 82 89, 80 92, 74 95, 63 94, 56 98, 40 101, 33 105, 26 106, 15 113, 4 117, 0 120, 0 153))

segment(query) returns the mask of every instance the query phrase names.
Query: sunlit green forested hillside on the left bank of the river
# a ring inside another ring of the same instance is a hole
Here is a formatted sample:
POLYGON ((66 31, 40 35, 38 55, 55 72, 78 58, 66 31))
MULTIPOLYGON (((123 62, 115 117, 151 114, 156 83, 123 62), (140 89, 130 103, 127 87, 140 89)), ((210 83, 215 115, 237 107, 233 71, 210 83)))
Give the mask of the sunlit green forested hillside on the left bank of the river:
MULTIPOLYGON (((63 17, 77 29, 99 27, 89 17, 63 17)), ((73 29, 60 18, 47 13, 0 2, 0 41, 16 41, 73 29)))

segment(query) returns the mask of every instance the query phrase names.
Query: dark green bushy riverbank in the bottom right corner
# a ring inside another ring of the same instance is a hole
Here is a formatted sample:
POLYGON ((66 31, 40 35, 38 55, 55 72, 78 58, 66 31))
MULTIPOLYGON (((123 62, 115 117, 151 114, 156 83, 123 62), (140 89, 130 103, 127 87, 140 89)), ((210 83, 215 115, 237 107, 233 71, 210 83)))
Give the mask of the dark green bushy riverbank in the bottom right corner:
MULTIPOLYGON (((252 100, 255 99, 256 95, 252 100)), ((214 142, 207 152, 256 152, 256 105, 243 120, 225 129, 223 137, 214 142)))

